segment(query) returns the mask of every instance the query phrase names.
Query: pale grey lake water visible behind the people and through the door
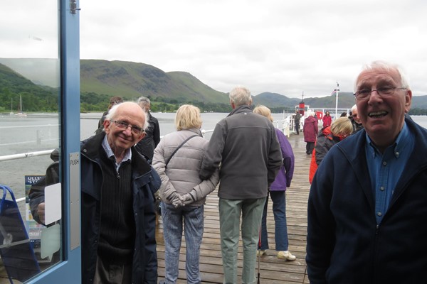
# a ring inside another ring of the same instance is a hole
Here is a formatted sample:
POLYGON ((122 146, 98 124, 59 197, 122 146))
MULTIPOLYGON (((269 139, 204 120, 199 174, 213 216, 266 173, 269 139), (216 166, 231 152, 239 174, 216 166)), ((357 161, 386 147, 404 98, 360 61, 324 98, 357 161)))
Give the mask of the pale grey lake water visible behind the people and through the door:
MULTIPOLYGON (((174 113, 154 113, 159 120, 160 134, 175 131, 174 113)), ((204 113, 202 129, 213 130, 218 121, 226 117, 225 113, 204 113)), ((93 135, 101 113, 81 114, 80 140, 93 135)), ((275 120, 284 119, 283 114, 273 114, 275 120)), ((412 116, 413 120, 427 128, 427 116, 412 116)), ((58 148, 58 115, 28 114, 26 117, 0 115, 0 156, 33 151, 45 151, 58 148)), ((211 133, 206 133, 209 139, 211 133)), ((52 163, 49 155, 41 155, 18 160, 0 161, 0 184, 11 187, 17 198, 24 195, 24 175, 44 175, 52 163)), ((0 192, 1 193, 1 192, 0 192)))

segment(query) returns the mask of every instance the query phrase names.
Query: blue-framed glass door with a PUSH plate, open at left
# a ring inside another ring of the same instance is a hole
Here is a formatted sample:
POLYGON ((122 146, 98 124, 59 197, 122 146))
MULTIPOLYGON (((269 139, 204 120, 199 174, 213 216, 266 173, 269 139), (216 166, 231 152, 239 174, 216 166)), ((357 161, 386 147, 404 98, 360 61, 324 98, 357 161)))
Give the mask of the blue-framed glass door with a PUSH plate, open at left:
POLYGON ((73 5, 0 2, 0 284, 80 282, 73 5))

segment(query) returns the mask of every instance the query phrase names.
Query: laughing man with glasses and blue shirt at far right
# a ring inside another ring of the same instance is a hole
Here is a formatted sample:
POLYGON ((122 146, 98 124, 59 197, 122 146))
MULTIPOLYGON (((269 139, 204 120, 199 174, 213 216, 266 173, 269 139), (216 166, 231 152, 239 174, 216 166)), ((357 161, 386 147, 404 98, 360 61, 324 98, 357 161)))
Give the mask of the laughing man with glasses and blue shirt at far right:
POLYGON ((411 87, 377 61, 355 91, 364 129, 328 152, 310 189, 310 283, 427 283, 427 130, 405 118, 411 87))

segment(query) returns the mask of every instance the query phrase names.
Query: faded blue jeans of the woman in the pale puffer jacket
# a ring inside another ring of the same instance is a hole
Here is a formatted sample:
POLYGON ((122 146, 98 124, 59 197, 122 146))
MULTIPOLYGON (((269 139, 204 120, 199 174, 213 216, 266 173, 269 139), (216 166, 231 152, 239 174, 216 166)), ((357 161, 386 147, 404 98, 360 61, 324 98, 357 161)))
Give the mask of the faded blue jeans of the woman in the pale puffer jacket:
POLYGON ((204 206, 185 206, 176 209, 172 204, 160 203, 163 219, 164 265, 166 284, 176 283, 179 272, 179 250, 182 230, 186 242, 185 270, 187 283, 201 283, 199 259, 204 228, 204 206))

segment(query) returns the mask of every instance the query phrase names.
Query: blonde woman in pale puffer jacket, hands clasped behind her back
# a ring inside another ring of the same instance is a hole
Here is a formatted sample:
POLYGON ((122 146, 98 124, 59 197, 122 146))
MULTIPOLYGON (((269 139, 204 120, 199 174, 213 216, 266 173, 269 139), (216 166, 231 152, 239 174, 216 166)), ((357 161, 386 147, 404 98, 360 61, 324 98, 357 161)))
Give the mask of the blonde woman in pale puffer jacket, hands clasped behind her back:
POLYGON ((184 104, 176 111, 176 132, 164 136, 154 150, 153 168, 162 179, 163 236, 166 283, 176 283, 184 223, 186 277, 201 283, 199 258, 204 231, 204 202, 219 182, 219 172, 200 180, 199 170, 209 141, 201 136, 200 110, 184 104), (188 139, 188 140, 187 140, 188 139))

